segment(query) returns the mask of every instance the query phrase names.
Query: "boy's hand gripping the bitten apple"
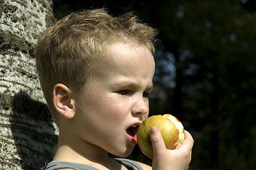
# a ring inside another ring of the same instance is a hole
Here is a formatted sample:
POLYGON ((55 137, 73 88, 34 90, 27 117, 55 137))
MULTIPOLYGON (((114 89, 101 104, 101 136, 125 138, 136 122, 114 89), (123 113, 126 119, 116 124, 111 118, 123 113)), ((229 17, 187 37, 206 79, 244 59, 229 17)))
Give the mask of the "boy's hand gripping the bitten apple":
POLYGON ((185 132, 185 140, 177 149, 166 149, 160 130, 150 129, 150 139, 154 151, 153 170, 187 170, 191 162, 191 149, 194 145, 193 137, 185 132))

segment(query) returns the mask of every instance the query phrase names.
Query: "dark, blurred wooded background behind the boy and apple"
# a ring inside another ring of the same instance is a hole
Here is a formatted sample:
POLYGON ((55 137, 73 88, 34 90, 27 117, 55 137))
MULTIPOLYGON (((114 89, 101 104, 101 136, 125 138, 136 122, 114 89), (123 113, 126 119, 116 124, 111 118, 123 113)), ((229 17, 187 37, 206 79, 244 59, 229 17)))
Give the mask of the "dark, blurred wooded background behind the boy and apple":
MULTIPOLYGON (((256 169, 256 1, 54 0, 58 19, 102 7, 159 30, 150 115, 191 132, 190 169, 256 169)), ((138 147, 130 158, 150 164, 138 147)))

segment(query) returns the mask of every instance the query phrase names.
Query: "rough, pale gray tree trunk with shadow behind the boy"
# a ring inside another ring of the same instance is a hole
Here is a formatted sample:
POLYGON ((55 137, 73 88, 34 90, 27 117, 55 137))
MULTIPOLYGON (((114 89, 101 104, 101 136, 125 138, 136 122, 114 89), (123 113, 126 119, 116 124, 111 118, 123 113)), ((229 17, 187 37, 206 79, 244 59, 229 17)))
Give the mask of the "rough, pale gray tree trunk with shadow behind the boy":
POLYGON ((51 0, 0 0, 0 169, 41 169, 55 152, 57 128, 33 57, 53 21, 51 0))

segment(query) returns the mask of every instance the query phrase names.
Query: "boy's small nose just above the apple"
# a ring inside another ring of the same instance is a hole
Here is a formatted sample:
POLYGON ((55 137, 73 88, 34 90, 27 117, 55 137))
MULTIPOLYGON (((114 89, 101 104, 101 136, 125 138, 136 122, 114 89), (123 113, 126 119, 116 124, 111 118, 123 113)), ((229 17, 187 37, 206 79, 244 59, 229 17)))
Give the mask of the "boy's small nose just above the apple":
POLYGON ((143 96, 138 96, 136 100, 133 101, 133 107, 131 108, 131 113, 133 115, 145 115, 149 112, 148 98, 143 96))

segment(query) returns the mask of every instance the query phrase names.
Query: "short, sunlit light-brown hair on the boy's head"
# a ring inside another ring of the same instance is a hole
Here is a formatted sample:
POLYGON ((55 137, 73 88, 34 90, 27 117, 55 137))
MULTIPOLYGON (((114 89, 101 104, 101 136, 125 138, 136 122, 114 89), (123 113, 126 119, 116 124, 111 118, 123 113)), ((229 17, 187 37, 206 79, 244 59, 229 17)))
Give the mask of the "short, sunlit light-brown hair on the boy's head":
POLYGON ((71 13, 45 30, 35 47, 36 67, 51 110, 52 89, 62 83, 79 91, 106 48, 131 41, 154 53, 157 31, 132 13, 112 17, 104 9, 71 13))

